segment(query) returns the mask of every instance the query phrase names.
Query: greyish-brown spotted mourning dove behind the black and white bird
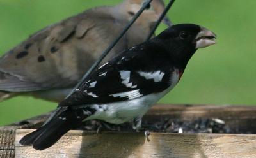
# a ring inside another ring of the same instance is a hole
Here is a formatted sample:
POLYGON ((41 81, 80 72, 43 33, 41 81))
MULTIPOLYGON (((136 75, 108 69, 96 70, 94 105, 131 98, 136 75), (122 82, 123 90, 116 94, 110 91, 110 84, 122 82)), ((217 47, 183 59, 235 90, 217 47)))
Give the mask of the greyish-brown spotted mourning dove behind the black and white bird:
MULTIPOLYGON (((0 100, 23 95, 62 101, 143 2, 124 0, 116 6, 86 10, 36 32, 6 52, 0 59, 0 100)), ((163 10, 162 0, 152 1, 104 61, 145 41, 163 10)))

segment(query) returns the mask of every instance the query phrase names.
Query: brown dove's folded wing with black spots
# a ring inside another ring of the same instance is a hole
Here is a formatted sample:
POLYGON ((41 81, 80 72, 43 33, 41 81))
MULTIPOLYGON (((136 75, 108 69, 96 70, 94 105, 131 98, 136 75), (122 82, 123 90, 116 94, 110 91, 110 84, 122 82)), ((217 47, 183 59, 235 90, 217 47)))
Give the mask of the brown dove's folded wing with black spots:
MULTIPOLYGON (((7 52, 0 59, 0 90, 73 87, 124 26, 108 10, 88 10, 51 25, 7 52)), ((126 47, 122 39, 109 57, 126 47)))

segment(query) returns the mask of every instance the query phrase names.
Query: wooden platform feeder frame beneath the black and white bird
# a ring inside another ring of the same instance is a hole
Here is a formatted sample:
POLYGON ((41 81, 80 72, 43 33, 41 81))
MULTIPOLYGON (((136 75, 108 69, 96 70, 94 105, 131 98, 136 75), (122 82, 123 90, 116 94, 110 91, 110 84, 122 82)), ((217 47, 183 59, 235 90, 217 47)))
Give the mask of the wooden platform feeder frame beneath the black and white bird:
MULTIPOLYGON (((256 133, 255 106, 157 105, 144 119, 218 118, 232 131, 256 133)), ((19 144, 20 138, 44 122, 48 114, 0 127, 0 157, 256 157, 255 134, 144 133, 69 131, 47 150, 19 144), (24 124, 29 123, 28 124, 24 124), (20 129, 21 128, 21 129, 20 129)))

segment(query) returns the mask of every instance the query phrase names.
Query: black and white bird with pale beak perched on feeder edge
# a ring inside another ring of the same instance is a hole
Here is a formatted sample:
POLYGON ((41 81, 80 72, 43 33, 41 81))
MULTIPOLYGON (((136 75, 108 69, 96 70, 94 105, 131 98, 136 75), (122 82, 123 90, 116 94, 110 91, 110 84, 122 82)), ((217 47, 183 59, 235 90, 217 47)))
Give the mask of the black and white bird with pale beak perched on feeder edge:
POLYGON ((90 119, 112 124, 141 117, 179 82, 198 48, 215 43, 216 35, 195 24, 169 27, 155 38, 125 50, 93 71, 81 87, 62 101, 44 126, 24 136, 22 145, 51 147, 68 130, 90 119))

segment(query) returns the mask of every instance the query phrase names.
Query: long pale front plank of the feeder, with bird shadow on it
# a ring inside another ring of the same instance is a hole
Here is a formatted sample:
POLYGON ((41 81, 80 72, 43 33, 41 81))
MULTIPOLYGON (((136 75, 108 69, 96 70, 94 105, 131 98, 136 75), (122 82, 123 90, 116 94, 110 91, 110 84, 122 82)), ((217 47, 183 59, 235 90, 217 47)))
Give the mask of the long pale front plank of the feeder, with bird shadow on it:
POLYGON ((56 145, 37 151, 19 144, 33 130, 17 129, 16 157, 234 157, 256 155, 253 134, 177 134, 70 131, 56 145))

